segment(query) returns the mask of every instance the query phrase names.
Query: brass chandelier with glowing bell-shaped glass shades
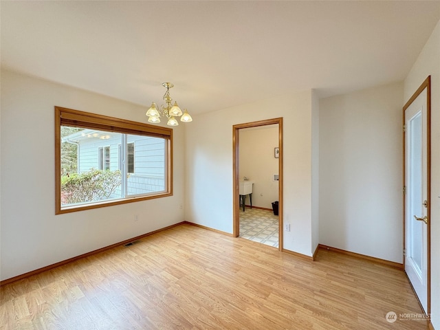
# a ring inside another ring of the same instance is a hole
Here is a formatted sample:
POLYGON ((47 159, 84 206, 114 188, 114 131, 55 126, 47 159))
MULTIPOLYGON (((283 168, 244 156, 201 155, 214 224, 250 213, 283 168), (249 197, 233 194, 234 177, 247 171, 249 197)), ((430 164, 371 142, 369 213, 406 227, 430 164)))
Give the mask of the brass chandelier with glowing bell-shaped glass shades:
POLYGON ((181 109, 177 105, 177 102, 171 104, 173 99, 170 97, 170 88, 173 88, 174 85, 172 83, 163 83, 162 86, 166 88, 166 92, 164 94, 165 105, 160 106, 160 110, 157 107, 155 102, 151 102, 151 107, 145 113, 148 116, 148 122, 152 122, 153 124, 157 124, 160 122, 160 117, 168 118, 168 122, 166 123, 169 126, 177 126, 179 122, 177 122, 176 117, 180 117, 181 122, 191 122, 192 118, 188 111, 184 109, 184 112, 181 112, 181 109))

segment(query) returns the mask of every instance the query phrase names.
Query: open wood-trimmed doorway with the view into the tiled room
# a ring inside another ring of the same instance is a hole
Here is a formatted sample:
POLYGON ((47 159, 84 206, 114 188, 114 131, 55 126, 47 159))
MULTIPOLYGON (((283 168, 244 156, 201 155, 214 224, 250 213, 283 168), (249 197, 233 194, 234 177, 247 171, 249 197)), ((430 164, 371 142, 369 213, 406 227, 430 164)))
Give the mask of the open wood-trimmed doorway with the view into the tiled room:
POLYGON ((283 250, 283 118, 237 124, 232 131, 233 234, 283 250), (265 134, 274 135, 269 143, 260 141, 260 150, 252 140, 265 134))

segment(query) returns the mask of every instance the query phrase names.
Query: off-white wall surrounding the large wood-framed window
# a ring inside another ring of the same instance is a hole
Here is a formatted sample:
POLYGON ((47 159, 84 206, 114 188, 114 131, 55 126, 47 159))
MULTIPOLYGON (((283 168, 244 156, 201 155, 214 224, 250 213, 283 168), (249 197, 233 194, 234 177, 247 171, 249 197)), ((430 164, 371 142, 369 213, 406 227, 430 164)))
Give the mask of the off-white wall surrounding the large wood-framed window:
POLYGON ((55 105, 146 122, 145 107, 1 72, 2 280, 184 221, 181 126, 174 131, 173 197, 55 215, 55 105))

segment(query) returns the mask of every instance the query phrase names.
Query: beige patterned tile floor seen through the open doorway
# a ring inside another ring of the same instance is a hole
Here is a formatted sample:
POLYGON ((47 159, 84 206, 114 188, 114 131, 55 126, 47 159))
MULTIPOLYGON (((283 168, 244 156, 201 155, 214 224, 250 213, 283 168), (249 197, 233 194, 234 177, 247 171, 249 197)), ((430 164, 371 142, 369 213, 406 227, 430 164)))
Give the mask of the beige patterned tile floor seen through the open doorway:
POLYGON ((240 237, 278 248, 278 216, 259 208, 240 209, 240 237))

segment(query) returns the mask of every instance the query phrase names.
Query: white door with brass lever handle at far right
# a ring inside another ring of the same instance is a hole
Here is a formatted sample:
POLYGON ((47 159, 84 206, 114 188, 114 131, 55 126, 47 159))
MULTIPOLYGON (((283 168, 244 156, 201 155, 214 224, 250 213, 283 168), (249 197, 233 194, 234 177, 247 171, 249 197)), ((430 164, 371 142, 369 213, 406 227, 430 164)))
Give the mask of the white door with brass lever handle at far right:
POLYGON ((405 110, 405 271, 428 313, 427 89, 405 110))

